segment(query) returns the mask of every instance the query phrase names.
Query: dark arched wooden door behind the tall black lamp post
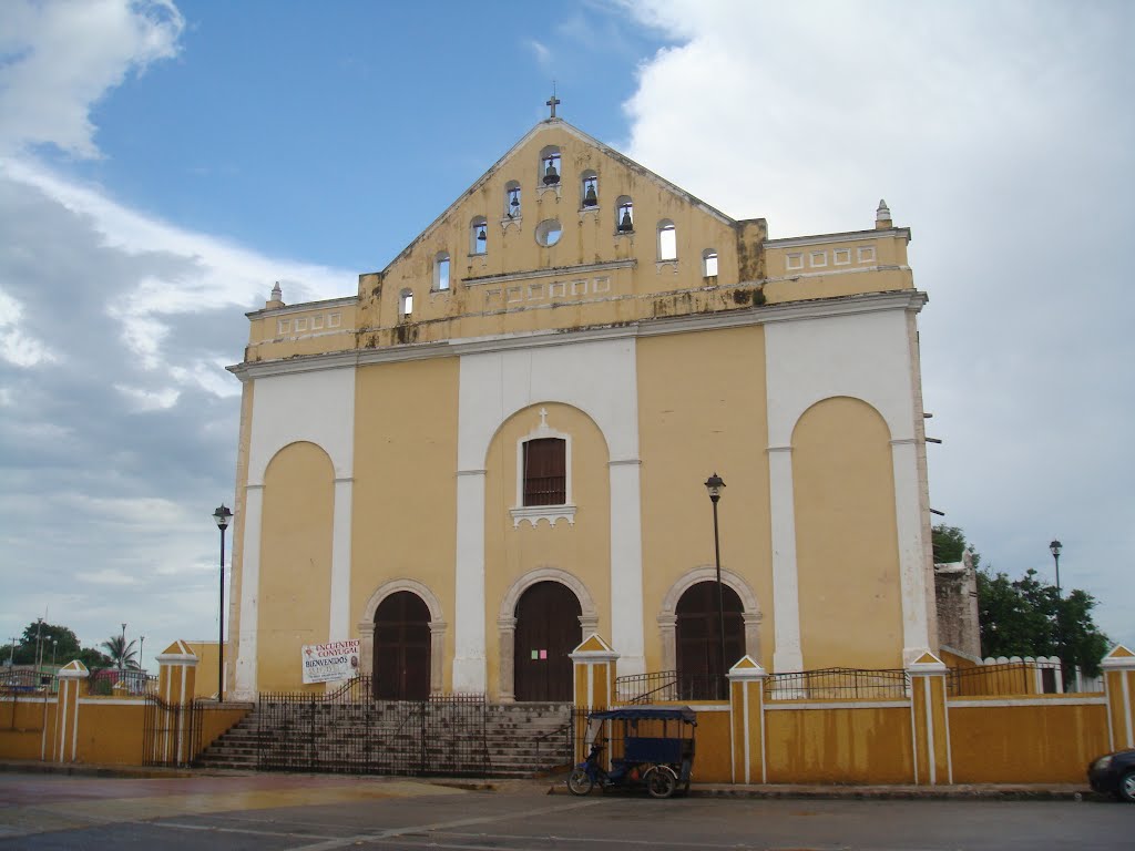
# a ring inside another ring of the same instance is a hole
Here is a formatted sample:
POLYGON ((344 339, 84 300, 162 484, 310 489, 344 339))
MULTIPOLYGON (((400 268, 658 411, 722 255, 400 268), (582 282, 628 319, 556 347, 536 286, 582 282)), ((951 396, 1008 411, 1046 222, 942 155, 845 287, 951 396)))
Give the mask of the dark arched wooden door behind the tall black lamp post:
POLYGON ((725 659, 721 658, 717 620, 717 583, 698 582, 678 601, 675 644, 681 700, 713 700, 728 697, 725 674, 745 656, 745 621, 741 598, 723 585, 725 614, 725 659))

